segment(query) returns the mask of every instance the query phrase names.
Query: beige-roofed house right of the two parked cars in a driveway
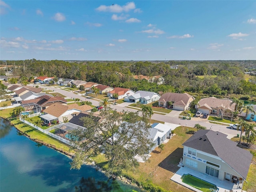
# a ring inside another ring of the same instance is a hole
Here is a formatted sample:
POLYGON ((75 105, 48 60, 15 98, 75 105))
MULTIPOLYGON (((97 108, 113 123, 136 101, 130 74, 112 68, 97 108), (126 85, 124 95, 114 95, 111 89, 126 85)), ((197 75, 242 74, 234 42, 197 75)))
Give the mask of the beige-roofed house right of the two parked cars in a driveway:
POLYGON ((223 116, 230 117, 234 112, 236 104, 229 99, 218 99, 215 97, 202 98, 196 105, 197 111, 207 114, 216 114, 222 116, 222 112, 226 112, 223 116))

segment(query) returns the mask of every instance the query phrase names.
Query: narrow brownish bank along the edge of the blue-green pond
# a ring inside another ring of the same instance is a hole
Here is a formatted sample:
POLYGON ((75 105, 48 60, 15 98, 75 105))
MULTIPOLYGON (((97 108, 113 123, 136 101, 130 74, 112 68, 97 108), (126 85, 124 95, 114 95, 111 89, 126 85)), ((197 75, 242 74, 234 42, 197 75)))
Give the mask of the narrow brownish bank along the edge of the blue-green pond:
MULTIPOLYGON (((3 118, 3 117, 0 116, 0 118, 3 118)), ((29 138, 30 140, 32 140, 32 141, 34 141, 34 142, 36 142, 36 143, 43 144, 43 145, 46 146, 46 147, 52 148, 52 149, 54 149, 54 150, 56 150, 56 151, 58 151, 58 152, 60 152, 60 153, 62 153, 62 154, 64 154, 64 155, 68 156, 68 157, 71 158, 71 159, 74 158, 74 156, 75 156, 74 153, 67 152, 67 151, 65 151, 65 150, 63 150, 63 149, 59 149, 59 148, 57 148, 56 146, 54 146, 54 145, 52 145, 52 144, 48 144, 48 143, 46 143, 46 142, 44 142, 44 141, 42 141, 42 140, 38 140, 38 139, 31 138, 30 135, 26 134, 25 132, 23 132, 22 130, 20 130, 19 128, 17 128, 17 127, 10 121, 10 118, 3 118, 3 119, 7 120, 8 123, 9 123, 11 126, 13 126, 18 132, 20 132, 22 135, 26 136, 26 137, 29 138)), ((32 128, 32 129, 34 129, 34 128, 32 128)), ((97 164, 95 164, 94 161, 92 161, 92 162, 84 162, 83 164, 86 165, 86 166, 91 166, 92 168, 96 169, 97 171, 102 172, 107 178, 112 178, 113 180, 114 180, 114 179, 117 179, 117 180, 120 180, 120 181, 122 181, 122 182, 124 182, 124 183, 126 183, 126 184, 130 184, 130 185, 132 185, 132 186, 136 186, 136 187, 140 188, 141 190, 143 189, 142 187, 138 186, 136 183, 133 183, 133 182, 132 182, 132 179, 130 179, 130 178, 126 178, 126 177, 124 177, 124 176, 116 176, 115 174, 111 174, 110 176, 107 176, 107 175, 106 175, 106 171, 102 170, 102 168, 101 168, 100 166, 98 166, 97 164)), ((144 189, 143 189, 143 190, 144 190, 144 189)))

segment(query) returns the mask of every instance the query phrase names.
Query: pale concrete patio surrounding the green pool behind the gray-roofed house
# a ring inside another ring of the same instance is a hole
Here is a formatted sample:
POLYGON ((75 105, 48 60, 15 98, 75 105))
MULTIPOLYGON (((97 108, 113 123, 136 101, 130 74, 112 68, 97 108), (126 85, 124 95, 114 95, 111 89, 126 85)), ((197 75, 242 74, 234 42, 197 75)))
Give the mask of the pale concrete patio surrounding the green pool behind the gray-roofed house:
POLYGON ((205 180, 207 182, 210 182, 212 184, 215 184, 219 190, 218 192, 230 192, 230 190, 232 190, 233 192, 242 192, 242 184, 234 184, 230 181, 221 181, 219 180, 218 178, 215 178, 213 176, 210 176, 210 175, 207 175, 207 174, 203 174, 203 173, 200 173, 200 172, 197 172, 196 170, 192 170, 188 167, 181 167, 175 174, 174 176, 172 176, 172 178, 170 178, 170 180, 178 183, 178 184, 181 184, 193 191, 196 191, 196 192, 201 192, 200 190, 192 187, 192 186, 189 186, 188 184, 185 184, 182 182, 181 180, 181 177, 183 174, 191 174, 193 176, 196 176, 202 180, 205 180), (240 187, 240 188, 239 188, 240 187))

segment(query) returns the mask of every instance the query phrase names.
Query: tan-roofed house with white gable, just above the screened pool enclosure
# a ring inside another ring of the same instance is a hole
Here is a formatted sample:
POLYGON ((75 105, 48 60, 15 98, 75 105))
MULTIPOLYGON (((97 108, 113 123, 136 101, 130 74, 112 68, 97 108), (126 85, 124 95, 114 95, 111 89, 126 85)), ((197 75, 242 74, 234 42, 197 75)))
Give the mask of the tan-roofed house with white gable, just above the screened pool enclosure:
MULTIPOLYGON (((45 114, 50 114, 52 116, 55 116, 58 118, 59 122, 63 122, 63 117, 68 118, 70 120, 73 118, 76 114, 82 112, 82 111, 90 111, 92 110, 91 106, 88 105, 81 105, 78 106, 78 104, 60 104, 60 103, 53 103, 48 108, 44 110, 45 114)), ((41 119, 48 124, 50 120, 47 118, 41 117, 41 119)))

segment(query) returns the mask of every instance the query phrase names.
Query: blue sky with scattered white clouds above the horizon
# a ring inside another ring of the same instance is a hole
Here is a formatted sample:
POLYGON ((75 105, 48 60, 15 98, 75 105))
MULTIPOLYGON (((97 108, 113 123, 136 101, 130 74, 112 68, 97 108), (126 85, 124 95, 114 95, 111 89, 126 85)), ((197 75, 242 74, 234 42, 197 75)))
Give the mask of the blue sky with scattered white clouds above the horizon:
POLYGON ((0 0, 0 38, 0 60, 256 60, 256 1, 0 0))

